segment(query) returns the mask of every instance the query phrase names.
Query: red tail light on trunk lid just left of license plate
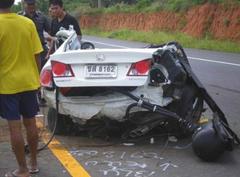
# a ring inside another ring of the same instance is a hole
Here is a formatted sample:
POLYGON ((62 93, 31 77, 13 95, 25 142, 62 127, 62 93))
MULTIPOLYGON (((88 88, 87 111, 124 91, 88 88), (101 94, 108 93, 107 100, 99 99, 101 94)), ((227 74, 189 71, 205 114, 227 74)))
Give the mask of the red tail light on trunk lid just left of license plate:
POLYGON ((52 61, 52 73, 54 77, 73 77, 73 71, 69 64, 52 61))

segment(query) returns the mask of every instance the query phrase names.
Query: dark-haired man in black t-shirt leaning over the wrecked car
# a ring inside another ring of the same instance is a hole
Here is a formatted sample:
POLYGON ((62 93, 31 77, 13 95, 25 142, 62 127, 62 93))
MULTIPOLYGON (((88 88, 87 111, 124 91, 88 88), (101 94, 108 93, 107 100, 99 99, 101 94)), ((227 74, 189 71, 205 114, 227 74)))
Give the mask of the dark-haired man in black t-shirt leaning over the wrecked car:
MULTIPOLYGON (((73 29, 76 31, 79 40, 81 40, 82 32, 80 30, 79 24, 73 16, 69 15, 67 12, 64 11, 62 0, 50 0, 49 9, 52 16, 54 17, 51 22, 51 36, 55 36, 56 33, 60 30, 60 28, 68 30, 70 26, 73 26, 73 29)), ((53 41, 51 42, 51 47, 49 49, 47 58, 49 57, 52 50, 53 41)))

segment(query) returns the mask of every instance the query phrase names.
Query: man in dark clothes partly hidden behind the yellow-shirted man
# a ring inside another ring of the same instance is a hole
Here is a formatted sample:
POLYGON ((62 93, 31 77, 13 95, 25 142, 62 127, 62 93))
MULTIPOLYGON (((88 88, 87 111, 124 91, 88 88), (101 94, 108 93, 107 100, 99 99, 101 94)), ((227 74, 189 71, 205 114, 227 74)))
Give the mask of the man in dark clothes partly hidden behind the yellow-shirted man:
POLYGON ((35 0, 24 0, 23 7, 24 10, 19 12, 19 14, 30 18, 36 25, 37 32, 43 47, 43 52, 40 54, 41 67, 43 67, 46 62, 45 57, 48 52, 46 40, 44 38, 44 32, 50 33, 50 20, 43 13, 37 10, 35 0))

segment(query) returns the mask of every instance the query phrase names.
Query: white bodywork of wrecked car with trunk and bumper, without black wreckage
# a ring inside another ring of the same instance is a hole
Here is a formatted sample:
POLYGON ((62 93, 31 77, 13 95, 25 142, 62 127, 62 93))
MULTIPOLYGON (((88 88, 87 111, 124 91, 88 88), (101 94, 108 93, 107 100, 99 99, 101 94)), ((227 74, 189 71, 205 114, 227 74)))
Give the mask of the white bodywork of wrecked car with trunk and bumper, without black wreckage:
POLYGON ((51 88, 59 87, 59 113, 79 124, 102 117, 124 121, 127 107, 134 100, 114 92, 116 88, 167 106, 173 99, 163 97, 161 87, 149 85, 154 51, 156 49, 80 50, 73 33, 41 71, 44 97, 50 107, 56 108, 55 92, 51 88))

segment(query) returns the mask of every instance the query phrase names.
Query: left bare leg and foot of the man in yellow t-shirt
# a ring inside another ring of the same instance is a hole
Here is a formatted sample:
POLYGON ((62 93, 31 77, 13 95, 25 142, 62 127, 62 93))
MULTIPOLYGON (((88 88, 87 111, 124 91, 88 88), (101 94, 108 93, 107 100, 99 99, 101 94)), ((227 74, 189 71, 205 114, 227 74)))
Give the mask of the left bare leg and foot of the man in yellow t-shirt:
POLYGON ((8 125, 9 125, 12 149, 15 153, 18 166, 19 166, 19 169, 15 173, 17 176, 28 177, 29 172, 28 172, 27 163, 25 159, 24 139, 22 136, 21 121, 11 120, 11 121, 8 121, 8 125))

